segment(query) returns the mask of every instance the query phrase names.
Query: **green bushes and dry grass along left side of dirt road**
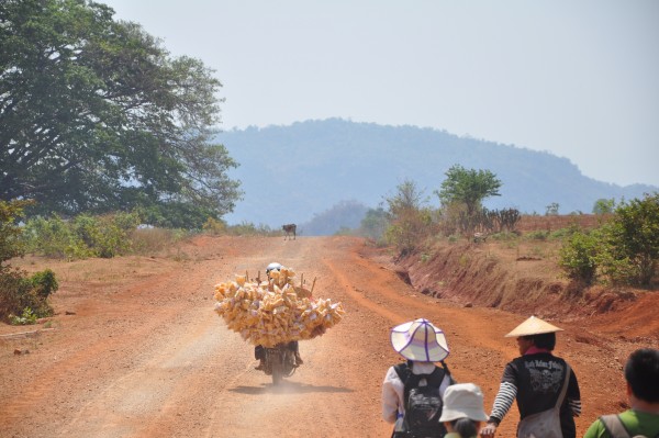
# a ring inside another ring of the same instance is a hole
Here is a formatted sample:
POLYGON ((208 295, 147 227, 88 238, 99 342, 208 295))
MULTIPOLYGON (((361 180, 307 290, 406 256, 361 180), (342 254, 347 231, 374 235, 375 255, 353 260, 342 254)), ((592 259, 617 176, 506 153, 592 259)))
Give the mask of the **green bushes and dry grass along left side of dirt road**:
POLYGON ((38 318, 51 316, 53 308, 48 297, 57 291, 58 282, 51 269, 29 276, 13 268, 11 259, 25 255, 67 261, 153 256, 202 233, 214 236, 281 235, 280 231, 268 226, 252 223, 230 226, 213 217, 199 229, 160 228, 143 224, 135 212, 26 218, 25 209, 33 204, 33 201, 0 200, 0 321, 15 325, 34 324, 38 318))

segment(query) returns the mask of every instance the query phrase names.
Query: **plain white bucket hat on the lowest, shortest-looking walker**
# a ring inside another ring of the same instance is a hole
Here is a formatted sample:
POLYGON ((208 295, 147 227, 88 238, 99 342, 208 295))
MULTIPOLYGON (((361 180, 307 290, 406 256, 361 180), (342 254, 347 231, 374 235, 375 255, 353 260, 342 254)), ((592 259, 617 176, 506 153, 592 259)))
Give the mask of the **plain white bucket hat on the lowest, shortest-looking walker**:
POLYGON ((488 414, 483 411, 483 393, 473 383, 456 383, 444 392, 444 407, 439 422, 469 418, 474 422, 487 422, 488 414))

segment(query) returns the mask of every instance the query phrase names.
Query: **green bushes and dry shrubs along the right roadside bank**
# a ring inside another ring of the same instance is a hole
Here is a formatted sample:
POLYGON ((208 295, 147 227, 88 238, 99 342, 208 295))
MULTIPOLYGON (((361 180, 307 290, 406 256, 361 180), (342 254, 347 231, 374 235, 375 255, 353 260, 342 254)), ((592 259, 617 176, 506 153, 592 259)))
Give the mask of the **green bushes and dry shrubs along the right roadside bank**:
MULTIPOLYGON (((590 226, 579 224, 581 214, 567 226, 522 232, 522 215, 515 209, 490 211, 482 206, 488 196, 500 195, 501 182, 487 170, 454 166, 437 194, 429 200, 413 181, 401 183, 384 199, 387 209, 369 210, 358 233, 376 245, 390 245, 399 258, 420 254, 433 255, 438 243, 478 244, 488 239, 502 247, 530 244, 530 251, 520 257, 551 258, 572 282, 583 290, 593 284, 630 285, 652 289, 659 260, 659 194, 622 201, 597 200, 596 217, 590 226), (535 244, 534 244, 535 243, 535 244)), ((547 206, 545 218, 558 217, 559 205, 547 206)))

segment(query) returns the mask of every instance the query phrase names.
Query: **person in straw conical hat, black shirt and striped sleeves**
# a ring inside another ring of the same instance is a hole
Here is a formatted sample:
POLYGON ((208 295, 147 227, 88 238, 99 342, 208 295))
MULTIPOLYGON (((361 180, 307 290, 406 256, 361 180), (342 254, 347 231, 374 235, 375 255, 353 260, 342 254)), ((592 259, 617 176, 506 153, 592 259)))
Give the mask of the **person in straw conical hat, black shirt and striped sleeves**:
POLYGON ((505 335, 517 340, 521 357, 505 366, 499 393, 482 437, 493 437, 496 427, 517 401, 520 424, 517 437, 529 438, 524 433, 528 425, 558 406, 560 425, 556 433, 545 431, 537 438, 576 438, 574 417, 581 414, 581 395, 577 375, 570 366, 551 351, 556 347, 556 333, 562 332, 538 317, 532 316, 505 335))

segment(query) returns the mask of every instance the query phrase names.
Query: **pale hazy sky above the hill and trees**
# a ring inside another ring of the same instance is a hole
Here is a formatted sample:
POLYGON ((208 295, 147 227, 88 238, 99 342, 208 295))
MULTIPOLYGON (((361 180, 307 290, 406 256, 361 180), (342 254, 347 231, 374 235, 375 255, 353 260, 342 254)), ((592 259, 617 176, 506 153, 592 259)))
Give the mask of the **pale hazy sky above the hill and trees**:
POLYGON ((222 130, 446 130, 659 187, 656 0, 98 0, 223 83, 222 130))

